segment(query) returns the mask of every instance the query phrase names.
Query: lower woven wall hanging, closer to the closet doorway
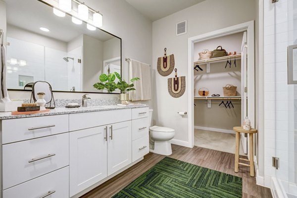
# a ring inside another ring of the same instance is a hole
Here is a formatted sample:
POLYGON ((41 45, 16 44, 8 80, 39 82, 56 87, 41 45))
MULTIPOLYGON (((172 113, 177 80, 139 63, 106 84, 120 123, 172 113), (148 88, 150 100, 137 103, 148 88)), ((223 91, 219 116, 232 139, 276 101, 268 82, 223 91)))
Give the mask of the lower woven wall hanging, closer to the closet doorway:
POLYGON ((183 96, 186 91, 186 76, 177 77, 177 69, 175 69, 175 77, 168 78, 168 92, 173 98, 183 96))

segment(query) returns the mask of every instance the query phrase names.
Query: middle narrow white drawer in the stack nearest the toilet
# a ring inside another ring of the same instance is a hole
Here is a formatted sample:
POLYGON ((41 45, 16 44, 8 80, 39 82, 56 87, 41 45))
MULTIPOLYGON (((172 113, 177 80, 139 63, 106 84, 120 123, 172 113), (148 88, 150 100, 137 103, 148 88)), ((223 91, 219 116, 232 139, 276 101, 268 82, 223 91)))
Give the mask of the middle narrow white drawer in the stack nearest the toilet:
POLYGON ((148 117, 132 120, 132 140, 148 135, 148 117))

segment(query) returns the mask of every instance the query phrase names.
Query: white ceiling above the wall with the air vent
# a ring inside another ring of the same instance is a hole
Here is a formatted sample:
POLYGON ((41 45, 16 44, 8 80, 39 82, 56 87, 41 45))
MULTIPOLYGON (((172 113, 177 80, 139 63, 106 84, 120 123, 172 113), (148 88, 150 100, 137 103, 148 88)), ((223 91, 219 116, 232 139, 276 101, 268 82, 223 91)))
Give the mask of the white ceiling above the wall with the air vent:
POLYGON ((158 20, 204 0, 126 0, 151 21, 158 20))

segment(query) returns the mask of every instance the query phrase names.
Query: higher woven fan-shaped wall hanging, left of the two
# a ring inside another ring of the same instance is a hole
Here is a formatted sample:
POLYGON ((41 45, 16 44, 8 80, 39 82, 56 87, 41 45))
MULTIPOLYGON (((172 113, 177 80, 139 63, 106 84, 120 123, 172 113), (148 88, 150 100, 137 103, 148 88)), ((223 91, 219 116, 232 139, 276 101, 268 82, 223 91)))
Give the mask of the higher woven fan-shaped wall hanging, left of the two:
POLYGON ((166 56, 166 48, 164 49, 164 56, 158 57, 157 70, 160 75, 168 76, 174 69, 174 54, 166 56))

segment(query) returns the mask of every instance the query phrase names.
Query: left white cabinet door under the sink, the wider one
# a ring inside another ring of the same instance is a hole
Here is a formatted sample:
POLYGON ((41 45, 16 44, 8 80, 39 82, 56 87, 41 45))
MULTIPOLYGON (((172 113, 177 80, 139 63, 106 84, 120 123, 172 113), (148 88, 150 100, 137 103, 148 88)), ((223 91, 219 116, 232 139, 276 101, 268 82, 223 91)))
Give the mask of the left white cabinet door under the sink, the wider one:
POLYGON ((70 197, 107 177, 107 128, 70 133, 70 197))

